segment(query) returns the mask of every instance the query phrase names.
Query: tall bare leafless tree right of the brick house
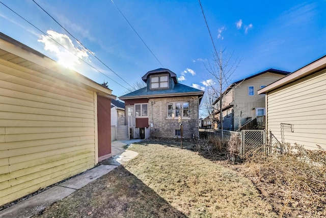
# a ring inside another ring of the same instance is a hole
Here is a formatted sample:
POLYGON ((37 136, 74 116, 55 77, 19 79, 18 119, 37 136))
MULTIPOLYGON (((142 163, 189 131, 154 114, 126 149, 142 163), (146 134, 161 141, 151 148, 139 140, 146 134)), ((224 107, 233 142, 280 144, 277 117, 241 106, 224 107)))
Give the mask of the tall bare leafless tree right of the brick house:
MULTIPOLYGON (((220 128, 223 130, 223 97, 226 94, 226 89, 228 88, 236 68, 240 60, 236 59, 232 62, 232 55, 226 55, 225 50, 221 50, 218 52, 213 52, 212 61, 208 61, 208 64, 205 65, 207 71, 209 72, 209 76, 212 82, 209 84, 212 90, 212 98, 216 98, 218 100, 216 103, 219 103, 218 107, 215 108, 220 113, 220 128)), ((222 139, 223 139, 223 131, 222 131, 222 139)))

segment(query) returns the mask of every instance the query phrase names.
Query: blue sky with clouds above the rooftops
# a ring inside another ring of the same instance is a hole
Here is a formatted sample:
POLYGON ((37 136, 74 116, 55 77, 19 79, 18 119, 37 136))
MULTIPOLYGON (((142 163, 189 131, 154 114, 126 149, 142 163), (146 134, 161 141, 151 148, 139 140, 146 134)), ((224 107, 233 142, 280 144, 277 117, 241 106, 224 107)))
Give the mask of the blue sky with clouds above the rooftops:
MULTIPOLYGON (((164 67, 205 89, 213 46, 198 1, 35 0, 96 55, 96 60, 32 0, 0 0, 0 32, 102 83, 120 96, 147 71, 164 67), (68 62, 67 62, 68 61, 68 62), (100 72, 105 74, 102 75, 100 72), (109 79, 110 78, 110 79, 109 79), (126 83, 125 81, 128 83, 126 83), (117 84, 118 83, 118 84, 117 84)), ((241 59, 233 81, 268 68, 294 71, 326 55, 326 1, 208 1, 201 4, 216 46, 241 59)))

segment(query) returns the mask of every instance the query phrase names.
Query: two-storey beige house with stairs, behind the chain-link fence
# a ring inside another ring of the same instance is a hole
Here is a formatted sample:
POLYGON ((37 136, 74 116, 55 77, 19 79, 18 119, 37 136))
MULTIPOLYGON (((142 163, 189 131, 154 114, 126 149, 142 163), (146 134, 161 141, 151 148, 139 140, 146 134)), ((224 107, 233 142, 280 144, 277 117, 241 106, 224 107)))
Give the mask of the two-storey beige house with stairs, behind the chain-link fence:
MULTIPOLYGON (((283 78, 290 72, 268 69, 230 85, 222 98, 222 122, 224 130, 264 129, 265 96, 257 90, 283 78), (257 117, 257 118, 256 118, 257 117), (258 119, 258 122, 257 122, 258 119)), ((214 103, 215 119, 220 124, 220 99, 214 103)), ((216 128, 216 127, 215 127, 216 128)))

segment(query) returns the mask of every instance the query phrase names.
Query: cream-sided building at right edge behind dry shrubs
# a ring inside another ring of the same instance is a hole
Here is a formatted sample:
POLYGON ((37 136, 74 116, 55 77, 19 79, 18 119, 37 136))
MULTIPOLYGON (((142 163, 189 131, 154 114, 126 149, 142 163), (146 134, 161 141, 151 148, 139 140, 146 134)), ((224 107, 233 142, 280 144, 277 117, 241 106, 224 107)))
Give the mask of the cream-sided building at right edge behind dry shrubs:
POLYGON ((272 137, 326 149, 326 56, 258 93, 266 94, 266 129, 272 137))

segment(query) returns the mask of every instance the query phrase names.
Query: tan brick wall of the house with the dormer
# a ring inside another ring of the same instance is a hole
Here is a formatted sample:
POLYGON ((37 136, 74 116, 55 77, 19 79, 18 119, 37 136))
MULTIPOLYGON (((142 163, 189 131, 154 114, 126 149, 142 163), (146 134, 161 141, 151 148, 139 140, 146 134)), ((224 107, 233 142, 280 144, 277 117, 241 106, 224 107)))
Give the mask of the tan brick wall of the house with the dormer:
POLYGON ((193 134, 198 136, 198 96, 184 96, 172 98, 153 98, 148 101, 148 119, 150 125, 151 137, 173 138, 175 129, 180 129, 178 117, 168 118, 169 102, 189 102, 190 118, 183 118, 183 137, 191 138, 193 134))

